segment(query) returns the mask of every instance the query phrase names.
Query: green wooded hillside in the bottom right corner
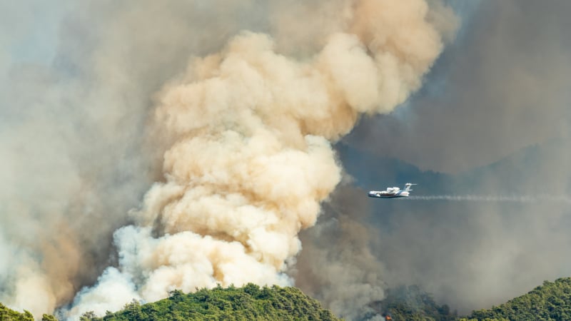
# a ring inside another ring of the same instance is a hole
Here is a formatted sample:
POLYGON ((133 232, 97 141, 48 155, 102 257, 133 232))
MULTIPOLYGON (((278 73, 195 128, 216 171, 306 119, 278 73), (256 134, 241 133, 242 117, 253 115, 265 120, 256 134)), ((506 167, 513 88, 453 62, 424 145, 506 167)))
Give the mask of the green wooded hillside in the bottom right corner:
POLYGON ((526 295, 490 310, 472 312, 471 319, 485 320, 571 320, 571 277, 543 282, 526 295))

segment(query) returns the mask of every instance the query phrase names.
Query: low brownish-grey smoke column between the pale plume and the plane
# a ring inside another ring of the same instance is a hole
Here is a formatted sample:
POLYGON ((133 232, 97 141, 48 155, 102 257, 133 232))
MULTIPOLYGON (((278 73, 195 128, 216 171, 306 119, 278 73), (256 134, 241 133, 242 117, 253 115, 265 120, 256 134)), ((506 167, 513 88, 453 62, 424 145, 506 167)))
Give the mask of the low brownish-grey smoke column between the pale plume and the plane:
POLYGON ((324 207, 315 228, 300 233, 303 250, 290 273, 295 284, 338 315, 359 320, 372 311, 370 302, 384 297, 383 263, 371 248, 373 230, 360 223, 370 212, 366 193, 345 179, 324 207))

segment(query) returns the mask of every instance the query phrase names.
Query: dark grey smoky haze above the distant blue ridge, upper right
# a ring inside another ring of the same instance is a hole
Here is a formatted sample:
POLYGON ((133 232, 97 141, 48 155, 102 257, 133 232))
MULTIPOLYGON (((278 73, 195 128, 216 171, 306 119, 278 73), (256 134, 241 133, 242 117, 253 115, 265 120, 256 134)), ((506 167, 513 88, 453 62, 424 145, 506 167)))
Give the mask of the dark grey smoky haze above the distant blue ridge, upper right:
POLYGON ((375 137, 384 157, 458 173, 567 135, 568 6, 482 1, 402 121, 365 119, 348 142, 375 137))

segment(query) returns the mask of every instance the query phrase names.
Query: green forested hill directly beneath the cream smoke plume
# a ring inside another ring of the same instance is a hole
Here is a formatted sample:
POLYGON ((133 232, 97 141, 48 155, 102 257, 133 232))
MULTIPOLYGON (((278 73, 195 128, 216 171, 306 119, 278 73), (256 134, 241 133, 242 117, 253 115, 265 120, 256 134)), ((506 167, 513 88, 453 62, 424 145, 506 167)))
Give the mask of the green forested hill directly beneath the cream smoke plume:
POLYGON ((131 302, 104 317, 84 314, 82 320, 340 320, 295 287, 216 287, 140 305, 131 302))

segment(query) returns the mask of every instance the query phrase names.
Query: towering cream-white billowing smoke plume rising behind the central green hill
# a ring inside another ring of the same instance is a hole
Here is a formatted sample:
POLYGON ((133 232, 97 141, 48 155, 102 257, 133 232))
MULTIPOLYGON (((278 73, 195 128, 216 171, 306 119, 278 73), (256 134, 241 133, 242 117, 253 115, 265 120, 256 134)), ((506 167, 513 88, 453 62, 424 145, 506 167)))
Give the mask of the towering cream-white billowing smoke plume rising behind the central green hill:
POLYGON ((164 181, 131 213, 136 223, 116 231, 118 267, 76 296, 69 317, 174 289, 291 283, 283 272, 301 248, 298 232, 340 180, 330 141, 360 113, 388 113, 419 88, 451 16, 423 0, 343 8, 305 61, 243 32, 163 88, 155 125, 171 143, 164 181))

